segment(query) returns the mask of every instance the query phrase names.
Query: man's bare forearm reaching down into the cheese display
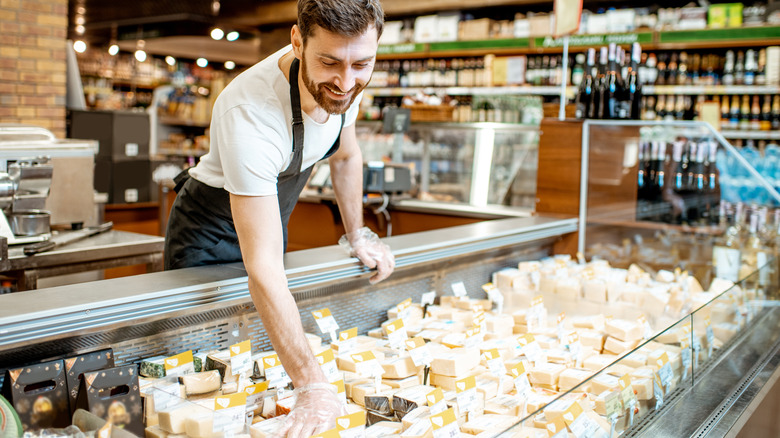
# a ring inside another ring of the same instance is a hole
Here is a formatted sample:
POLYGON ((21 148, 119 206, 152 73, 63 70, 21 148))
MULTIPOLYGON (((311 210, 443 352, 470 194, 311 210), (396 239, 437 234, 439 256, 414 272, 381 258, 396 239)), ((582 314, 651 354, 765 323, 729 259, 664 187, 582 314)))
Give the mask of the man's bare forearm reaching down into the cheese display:
POLYGON ((327 382, 306 341, 292 294, 286 284, 268 284, 282 283, 269 280, 266 278, 259 282, 250 279, 249 291, 285 371, 296 387, 327 382))

